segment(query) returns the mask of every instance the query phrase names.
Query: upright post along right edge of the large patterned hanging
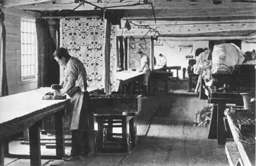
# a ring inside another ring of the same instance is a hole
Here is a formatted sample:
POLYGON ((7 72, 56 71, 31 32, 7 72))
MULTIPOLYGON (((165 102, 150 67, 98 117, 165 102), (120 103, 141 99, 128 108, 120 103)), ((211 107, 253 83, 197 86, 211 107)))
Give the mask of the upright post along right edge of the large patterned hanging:
POLYGON ((111 21, 107 19, 106 42, 105 42, 105 91, 106 91, 106 94, 111 94, 110 65, 109 65, 110 51, 111 51, 111 21))

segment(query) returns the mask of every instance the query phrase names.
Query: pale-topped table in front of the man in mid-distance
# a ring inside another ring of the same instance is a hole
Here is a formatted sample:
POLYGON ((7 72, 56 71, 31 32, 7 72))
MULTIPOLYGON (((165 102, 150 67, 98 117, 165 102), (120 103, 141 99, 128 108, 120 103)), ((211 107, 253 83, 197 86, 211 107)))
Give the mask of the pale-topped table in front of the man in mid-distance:
POLYGON ((119 71, 116 79, 120 81, 119 91, 121 94, 140 94, 142 89, 143 72, 138 71, 119 71))

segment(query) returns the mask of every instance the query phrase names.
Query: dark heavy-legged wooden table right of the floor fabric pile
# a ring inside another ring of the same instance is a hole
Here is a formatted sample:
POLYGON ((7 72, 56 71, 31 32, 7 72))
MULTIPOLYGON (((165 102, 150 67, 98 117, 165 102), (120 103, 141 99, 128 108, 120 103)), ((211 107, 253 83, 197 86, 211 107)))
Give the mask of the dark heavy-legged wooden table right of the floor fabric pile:
POLYGON ((227 104, 243 106, 240 93, 213 92, 210 94, 209 103, 213 103, 213 112, 209 126, 209 139, 217 138, 219 145, 225 145, 224 111, 227 104))

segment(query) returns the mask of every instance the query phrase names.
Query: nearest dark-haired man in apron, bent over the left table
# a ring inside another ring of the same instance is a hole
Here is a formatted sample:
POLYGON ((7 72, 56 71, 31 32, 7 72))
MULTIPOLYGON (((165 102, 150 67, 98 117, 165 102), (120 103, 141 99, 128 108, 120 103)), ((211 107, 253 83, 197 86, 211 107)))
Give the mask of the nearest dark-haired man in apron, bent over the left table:
POLYGON ((69 55, 67 49, 58 48, 53 53, 54 59, 66 68, 66 76, 61 82, 63 87, 58 95, 69 95, 71 97, 71 109, 69 115, 69 126, 72 133, 72 150, 71 155, 66 156, 64 160, 81 159, 86 153, 88 146, 94 154, 94 122, 92 114, 92 102, 87 91, 87 72, 83 63, 69 55), (87 139, 85 139, 87 136, 87 139), (86 142, 88 141, 88 142, 86 142))

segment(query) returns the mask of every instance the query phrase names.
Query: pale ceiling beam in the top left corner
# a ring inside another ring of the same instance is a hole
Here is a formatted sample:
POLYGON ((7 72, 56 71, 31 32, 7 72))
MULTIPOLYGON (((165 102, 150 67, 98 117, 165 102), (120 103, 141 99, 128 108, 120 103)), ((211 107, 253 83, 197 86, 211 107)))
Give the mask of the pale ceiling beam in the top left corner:
POLYGON ((46 3, 46 2, 53 2, 55 0, 4 0, 3 7, 4 8, 11 8, 17 6, 28 6, 31 4, 39 4, 39 3, 46 3))

